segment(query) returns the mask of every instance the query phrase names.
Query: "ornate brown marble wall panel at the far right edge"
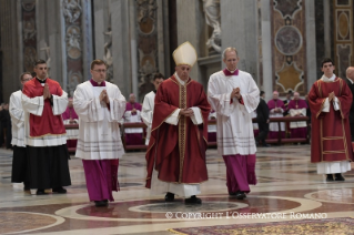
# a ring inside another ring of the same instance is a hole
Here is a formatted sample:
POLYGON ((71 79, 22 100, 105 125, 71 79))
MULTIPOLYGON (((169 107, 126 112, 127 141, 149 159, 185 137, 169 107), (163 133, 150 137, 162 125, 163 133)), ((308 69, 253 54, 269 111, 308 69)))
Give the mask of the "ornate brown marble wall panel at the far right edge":
POLYGON ((334 63, 335 74, 346 76, 346 69, 353 65, 353 1, 334 0, 334 63))

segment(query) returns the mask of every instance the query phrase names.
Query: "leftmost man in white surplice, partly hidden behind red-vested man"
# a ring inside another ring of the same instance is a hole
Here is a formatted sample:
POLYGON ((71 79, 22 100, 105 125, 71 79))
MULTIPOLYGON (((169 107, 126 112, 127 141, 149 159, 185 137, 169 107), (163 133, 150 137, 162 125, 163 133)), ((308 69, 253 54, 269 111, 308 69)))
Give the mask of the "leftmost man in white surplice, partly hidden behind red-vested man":
MULTIPOLYGON (((24 72, 21 74, 20 80, 23 85, 26 82, 30 81, 32 75, 30 72, 24 72)), ((10 96, 10 108, 9 113, 11 116, 12 124, 12 140, 11 144, 13 147, 12 157, 12 183, 22 183, 23 190, 30 190, 30 178, 28 168, 28 156, 24 145, 24 111, 21 103, 22 91, 16 91, 10 96)))

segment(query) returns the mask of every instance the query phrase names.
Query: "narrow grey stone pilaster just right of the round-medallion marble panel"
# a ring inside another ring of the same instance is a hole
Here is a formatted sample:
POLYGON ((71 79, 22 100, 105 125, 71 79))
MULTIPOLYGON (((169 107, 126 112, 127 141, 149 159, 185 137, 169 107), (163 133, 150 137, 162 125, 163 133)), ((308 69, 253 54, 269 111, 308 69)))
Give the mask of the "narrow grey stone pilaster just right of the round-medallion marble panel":
POLYGON ((305 1, 307 92, 317 80, 315 3, 305 1))

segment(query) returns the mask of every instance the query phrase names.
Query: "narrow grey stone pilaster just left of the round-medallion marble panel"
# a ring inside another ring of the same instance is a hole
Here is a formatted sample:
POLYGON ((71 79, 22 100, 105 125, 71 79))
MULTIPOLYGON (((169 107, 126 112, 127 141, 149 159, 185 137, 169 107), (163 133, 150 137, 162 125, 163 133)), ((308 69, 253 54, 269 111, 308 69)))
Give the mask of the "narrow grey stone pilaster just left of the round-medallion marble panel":
POLYGON ((271 4, 269 0, 261 0, 261 4, 263 90, 265 92, 265 100, 271 100, 273 92, 271 4))

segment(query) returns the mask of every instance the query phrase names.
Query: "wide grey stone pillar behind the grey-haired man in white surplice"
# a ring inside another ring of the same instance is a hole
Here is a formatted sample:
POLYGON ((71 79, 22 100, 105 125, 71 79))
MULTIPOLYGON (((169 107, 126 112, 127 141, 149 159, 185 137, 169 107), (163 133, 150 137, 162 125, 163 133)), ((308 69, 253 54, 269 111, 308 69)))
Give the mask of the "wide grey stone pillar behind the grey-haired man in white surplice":
MULTIPOLYGON (((237 49, 239 69, 257 81, 257 6, 256 1, 221 1, 221 44, 237 49)), ((222 64, 222 67, 224 67, 222 64)))

